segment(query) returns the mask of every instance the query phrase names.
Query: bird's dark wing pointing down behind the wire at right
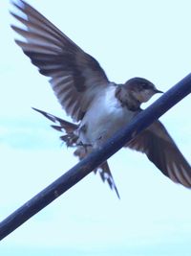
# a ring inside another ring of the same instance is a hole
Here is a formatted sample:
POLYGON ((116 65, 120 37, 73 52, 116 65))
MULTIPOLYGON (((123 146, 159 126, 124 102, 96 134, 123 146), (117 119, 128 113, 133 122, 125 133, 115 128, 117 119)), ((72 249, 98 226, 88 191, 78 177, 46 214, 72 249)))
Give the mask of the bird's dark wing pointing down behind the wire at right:
POLYGON ((191 187, 191 166, 159 121, 141 132, 126 147, 146 153, 164 175, 191 187))

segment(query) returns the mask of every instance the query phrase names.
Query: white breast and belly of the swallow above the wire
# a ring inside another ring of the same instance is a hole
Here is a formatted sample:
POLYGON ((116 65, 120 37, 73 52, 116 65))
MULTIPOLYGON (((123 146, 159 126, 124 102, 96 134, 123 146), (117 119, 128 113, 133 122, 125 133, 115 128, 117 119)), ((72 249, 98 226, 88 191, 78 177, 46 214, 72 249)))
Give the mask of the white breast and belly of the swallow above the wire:
POLYGON ((116 86, 111 85, 96 97, 86 112, 81 126, 86 127, 80 139, 85 144, 95 146, 104 143, 119 128, 124 127, 134 117, 135 112, 122 107, 117 100, 116 86))

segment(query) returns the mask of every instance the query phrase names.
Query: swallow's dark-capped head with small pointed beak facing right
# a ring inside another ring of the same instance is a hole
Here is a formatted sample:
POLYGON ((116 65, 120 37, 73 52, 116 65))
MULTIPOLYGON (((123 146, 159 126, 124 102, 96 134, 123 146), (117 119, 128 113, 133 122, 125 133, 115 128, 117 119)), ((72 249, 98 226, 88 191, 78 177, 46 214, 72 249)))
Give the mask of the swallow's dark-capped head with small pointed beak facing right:
POLYGON ((130 79, 125 82, 124 86, 139 104, 146 103, 156 93, 163 93, 159 91, 151 81, 142 78, 130 79))

